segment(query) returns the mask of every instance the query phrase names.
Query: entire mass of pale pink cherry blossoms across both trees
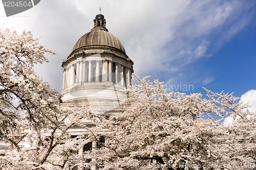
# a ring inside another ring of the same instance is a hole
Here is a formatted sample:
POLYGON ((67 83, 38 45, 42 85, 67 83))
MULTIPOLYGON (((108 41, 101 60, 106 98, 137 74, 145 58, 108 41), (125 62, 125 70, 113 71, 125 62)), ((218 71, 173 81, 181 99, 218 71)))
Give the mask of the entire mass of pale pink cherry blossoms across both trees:
POLYGON ((255 113, 232 93, 205 89, 206 100, 135 76, 139 84, 127 89, 132 106, 123 113, 60 107, 61 95, 33 70, 48 62, 45 53, 55 54, 31 32, 0 30, 0 168, 254 169, 255 113), (221 120, 229 115, 234 122, 225 127, 221 120), (71 136, 74 126, 86 132, 71 136), (92 151, 78 154, 90 143, 92 151))

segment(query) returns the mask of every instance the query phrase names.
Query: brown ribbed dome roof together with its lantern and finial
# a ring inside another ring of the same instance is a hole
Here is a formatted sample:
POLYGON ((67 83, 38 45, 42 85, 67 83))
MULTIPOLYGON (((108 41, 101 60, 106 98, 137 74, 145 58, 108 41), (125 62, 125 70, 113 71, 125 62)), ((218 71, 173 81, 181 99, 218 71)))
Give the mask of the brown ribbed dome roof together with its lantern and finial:
MULTIPOLYGON (((81 47, 89 46, 109 46, 117 48, 125 54, 122 43, 113 34, 109 33, 105 28, 106 21, 104 16, 99 13, 96 15, 94 21, 94 28, 91 32, 84 34, 75 44, 73 51, 81 47)), ((73 52, 72 51, 72 52, 73 52)))

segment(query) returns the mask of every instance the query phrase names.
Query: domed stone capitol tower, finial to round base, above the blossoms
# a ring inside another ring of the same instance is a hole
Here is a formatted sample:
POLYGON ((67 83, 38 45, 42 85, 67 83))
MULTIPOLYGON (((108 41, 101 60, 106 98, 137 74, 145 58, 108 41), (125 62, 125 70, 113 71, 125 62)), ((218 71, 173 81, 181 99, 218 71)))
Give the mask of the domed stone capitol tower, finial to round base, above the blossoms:
POLYGON ((83 104, 101 112, 123 112, 125 89, 131 85, 133 61, 122 43, 106 29, 106 20, 99 11, 94 26, 74 45, 62 62, 62 106, 83 104))

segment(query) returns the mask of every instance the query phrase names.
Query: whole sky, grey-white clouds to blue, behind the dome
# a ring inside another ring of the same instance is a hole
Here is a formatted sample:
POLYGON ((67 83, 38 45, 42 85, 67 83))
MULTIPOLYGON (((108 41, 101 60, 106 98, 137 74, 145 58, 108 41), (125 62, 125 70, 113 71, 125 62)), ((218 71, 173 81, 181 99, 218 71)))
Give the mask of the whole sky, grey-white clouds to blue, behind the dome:
POLYGON ((168 90, 205 94, 205 87, 256 98, 255 0, 42 0, 10 17, 0 5, 0 27, 33 30, 42 45, 58 53, 35 70, 61 92, 61 63, 93 28, 99 7, 136 75, 164 81, 168 90), (188 85, 193 86, 184 88, 188 85))

